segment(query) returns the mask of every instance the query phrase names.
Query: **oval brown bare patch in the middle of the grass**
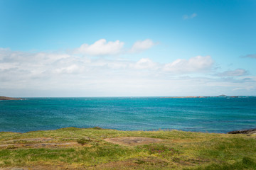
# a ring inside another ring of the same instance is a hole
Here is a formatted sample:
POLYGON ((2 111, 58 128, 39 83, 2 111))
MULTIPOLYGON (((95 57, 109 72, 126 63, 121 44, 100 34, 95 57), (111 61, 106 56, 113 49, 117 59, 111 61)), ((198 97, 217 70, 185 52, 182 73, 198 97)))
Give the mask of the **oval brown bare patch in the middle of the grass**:
POLYGON ((107 138, 105 139, 105 141, 124 146, 137 146, 151 143, 159 143, 163 140, 150 137, 113 137, 107 138))

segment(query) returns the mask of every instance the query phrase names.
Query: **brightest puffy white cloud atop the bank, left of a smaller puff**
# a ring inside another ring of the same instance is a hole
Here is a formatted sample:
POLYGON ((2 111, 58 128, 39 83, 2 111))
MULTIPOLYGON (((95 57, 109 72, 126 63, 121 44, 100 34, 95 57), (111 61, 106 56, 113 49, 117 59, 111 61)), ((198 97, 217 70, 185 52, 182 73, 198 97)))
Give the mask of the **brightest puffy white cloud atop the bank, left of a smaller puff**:
POLYGON ((75 53, 83 55, 117 55, 122 52, 124 42, 119 40, 107 42, 105 39, 100 39, 94 42, 92 45, 82 44, 78 49, 75 49, 75 53))

